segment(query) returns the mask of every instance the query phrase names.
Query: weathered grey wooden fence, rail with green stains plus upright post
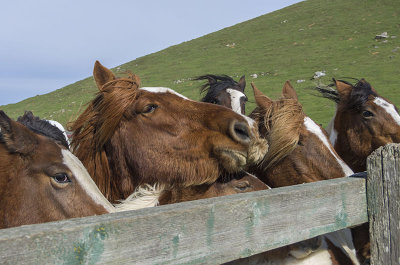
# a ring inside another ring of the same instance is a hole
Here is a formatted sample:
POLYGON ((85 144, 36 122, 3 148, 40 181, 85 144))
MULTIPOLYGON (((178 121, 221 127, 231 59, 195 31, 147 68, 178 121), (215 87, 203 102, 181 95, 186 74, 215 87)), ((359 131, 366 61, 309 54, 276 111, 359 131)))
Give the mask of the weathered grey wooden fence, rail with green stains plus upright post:
POLYGON ((368 221, 372 264, 399 264, 400 145, 368 180, 329 181, 0 230, 1 264, 220 264, 368 221), (367 200, 368 194, 368 200, 367 200))

